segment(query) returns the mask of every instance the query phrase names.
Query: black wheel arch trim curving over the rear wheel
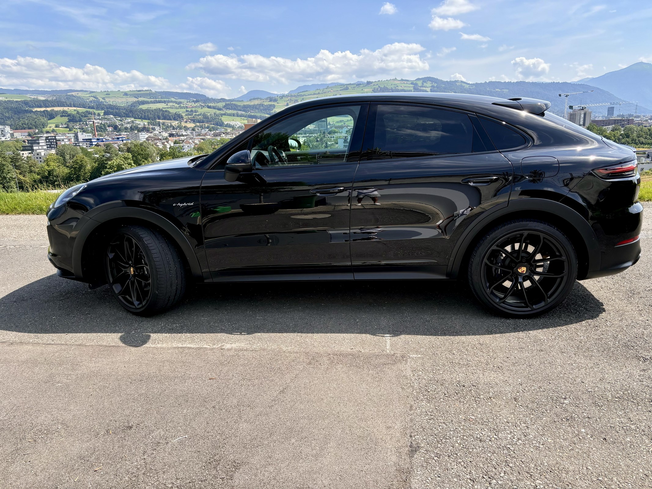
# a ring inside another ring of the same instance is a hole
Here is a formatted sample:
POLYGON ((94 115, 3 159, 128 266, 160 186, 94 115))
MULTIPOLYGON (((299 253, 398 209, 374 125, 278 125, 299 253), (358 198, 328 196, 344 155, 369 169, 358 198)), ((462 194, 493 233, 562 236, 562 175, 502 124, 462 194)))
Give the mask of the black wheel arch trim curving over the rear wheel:
POLYGON ((460 237, 452 252, 448 276, 458 278, 466 267, 475 245, 489 230, 517 218, 549 222, 569 237, 578 257, 578 280, 600 268, 600 247, 593 229, 577 211, 557 201, 540 198, 510 200, 506 207, 482 216, 460 237))

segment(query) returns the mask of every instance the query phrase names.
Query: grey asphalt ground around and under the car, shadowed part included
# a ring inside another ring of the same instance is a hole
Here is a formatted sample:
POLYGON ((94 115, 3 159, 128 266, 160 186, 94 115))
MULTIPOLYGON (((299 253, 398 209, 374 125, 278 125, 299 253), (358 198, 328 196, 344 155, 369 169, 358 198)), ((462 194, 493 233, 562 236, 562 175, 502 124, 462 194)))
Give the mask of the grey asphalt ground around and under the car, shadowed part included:
POLYGON ((537 319, 448 282, 198 286, 136 318, 54 275, 43 216, 0 216, 0 488, 650 488, 649 223, 638 265, 537 319))

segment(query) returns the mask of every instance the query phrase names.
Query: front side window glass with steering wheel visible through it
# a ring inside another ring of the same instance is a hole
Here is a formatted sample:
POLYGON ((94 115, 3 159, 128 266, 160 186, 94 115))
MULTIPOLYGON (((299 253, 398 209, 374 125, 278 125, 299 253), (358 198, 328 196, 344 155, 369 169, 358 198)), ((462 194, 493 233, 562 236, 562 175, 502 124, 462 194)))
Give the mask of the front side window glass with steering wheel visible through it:
POLYGON ((360 106, 334 106, 288 117, 254 136, 252 162, 256 168, 346 162, 359 113, 360 106))

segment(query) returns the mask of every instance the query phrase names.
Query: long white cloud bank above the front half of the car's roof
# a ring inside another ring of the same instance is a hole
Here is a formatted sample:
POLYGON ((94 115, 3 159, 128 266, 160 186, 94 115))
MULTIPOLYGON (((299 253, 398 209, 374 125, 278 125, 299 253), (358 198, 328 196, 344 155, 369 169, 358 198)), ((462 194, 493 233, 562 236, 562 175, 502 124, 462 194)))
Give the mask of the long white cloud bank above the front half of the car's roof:
POLYGON ((421 44, 394 42, 376 51, 361 50, 359 54, 321 50, 307 59, 265 57, 258 54, 216 54, 205 56, 186 68, 200 70, 209 76, 225 76, 250 82, 349 82, 428 70, 428 63, 419 55, 424 50, 421 44))

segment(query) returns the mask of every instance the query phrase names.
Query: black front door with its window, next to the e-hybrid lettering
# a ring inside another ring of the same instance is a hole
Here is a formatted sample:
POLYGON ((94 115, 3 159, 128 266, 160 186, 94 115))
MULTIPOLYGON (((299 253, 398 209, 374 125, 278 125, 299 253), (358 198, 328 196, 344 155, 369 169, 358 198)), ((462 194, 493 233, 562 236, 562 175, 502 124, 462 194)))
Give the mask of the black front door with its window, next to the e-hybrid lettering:
POLYGON ((230 183, 223 164, 207 171, 201 217, 213 280, 353 278, 349 208, 364 117, 360 105, 290 115, 248 141, 251 173, 230 183))

